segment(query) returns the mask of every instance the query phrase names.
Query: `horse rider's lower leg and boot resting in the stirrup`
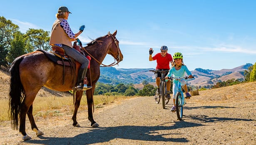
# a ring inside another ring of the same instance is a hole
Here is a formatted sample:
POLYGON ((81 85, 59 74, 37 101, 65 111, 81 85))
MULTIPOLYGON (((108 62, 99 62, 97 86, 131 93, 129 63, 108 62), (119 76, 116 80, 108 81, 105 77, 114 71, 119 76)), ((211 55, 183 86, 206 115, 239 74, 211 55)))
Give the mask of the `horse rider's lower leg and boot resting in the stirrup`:
POLYGON ((87 84, 84 84, 84 78, 85 78, 85 75, 86 75, 86 72, 87 72, 87 68, 79 68, 79 71, 78 71, 78 75, 77 75, 77 85, 76 85, 76 89, 77 91, 80 91, 80 90, 87 90, 87 89, 91 89, 92 86, 87 86, 87 84))

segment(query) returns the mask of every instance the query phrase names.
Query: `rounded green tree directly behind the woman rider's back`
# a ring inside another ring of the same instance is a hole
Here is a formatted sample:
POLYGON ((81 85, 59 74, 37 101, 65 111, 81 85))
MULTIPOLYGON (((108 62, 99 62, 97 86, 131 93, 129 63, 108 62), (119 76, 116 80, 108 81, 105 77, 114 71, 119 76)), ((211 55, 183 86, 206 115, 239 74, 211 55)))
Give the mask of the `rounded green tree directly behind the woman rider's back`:
POLYGON ((27 39, 27 51, 32 52, 37 49, 42 49, 49 51, 51 46, 50 41, 50 32, 44 31, 43 29, 28 29, 25 37, 27 39))

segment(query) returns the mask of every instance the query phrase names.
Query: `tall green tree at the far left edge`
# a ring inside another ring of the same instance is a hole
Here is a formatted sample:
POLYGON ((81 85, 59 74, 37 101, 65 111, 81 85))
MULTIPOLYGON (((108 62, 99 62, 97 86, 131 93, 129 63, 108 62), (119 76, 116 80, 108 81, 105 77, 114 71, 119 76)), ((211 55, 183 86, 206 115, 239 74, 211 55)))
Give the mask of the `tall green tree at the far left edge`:
POLYGON ((0 17, 0 66, 8 65, 6 56, 9 51, 13 34, 19 31, 19 27, 12 21, 0 17))

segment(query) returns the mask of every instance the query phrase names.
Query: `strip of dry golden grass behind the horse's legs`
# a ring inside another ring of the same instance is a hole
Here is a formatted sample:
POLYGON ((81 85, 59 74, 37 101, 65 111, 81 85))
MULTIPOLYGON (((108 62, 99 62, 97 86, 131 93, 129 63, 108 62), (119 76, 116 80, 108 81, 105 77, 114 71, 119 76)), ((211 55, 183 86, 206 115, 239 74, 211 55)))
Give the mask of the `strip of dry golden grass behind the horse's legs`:
MULTIPOLYGON (((94 107, 101 108, 105 104, 114 103, 120 99, 126 99, 125 96, 94 96, 94 107)), ((129 97, 130 98, 130 97, 129 97)), ((9 120, 8 99, 0 99, 0 122, 9 120)), ((36 97, 33 103, 33 114, 35 119, 46 118, 49 116, 63 116, 73 114, 73 97, 36 97)), ((79 111, 87 111, 87 99, 84 95, 80 102, 79 111)))

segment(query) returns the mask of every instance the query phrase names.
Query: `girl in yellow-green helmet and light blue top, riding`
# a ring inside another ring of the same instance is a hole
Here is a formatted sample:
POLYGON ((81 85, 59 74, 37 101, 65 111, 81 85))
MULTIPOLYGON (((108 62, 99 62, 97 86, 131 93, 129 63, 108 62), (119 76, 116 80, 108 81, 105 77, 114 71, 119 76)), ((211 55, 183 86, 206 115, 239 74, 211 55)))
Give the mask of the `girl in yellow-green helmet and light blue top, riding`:
MULTIPOLYGON (((182 53, 176 52, 173 55, 174 63, 173 66, 171 67, 169 73, 166 76, 166 79, 168 77, 171 77, 173 75, 174 77, 184 77, 185 72, 187 75, 189 75, 189 78, 192 78, 191 72, 189 69, 184 65, 183 63, 183 56, 182 53)), ((176 99, 176 92, 178 91, 178 80, 173 80, 173 87, 172 87, 172 92, 173 92, 173 104, 174 106, 171 107, 171 111, 175 112, 176 111, 176 105, 175 105, 175 99, 176 99)), ((186 99, 190 99, 191 95, 188 92, 187 86, 186 86, 186 81, 184 79, 181 79, 181 85, 182 88, 184 89, 186 93, 186 99)))

